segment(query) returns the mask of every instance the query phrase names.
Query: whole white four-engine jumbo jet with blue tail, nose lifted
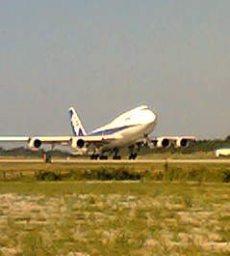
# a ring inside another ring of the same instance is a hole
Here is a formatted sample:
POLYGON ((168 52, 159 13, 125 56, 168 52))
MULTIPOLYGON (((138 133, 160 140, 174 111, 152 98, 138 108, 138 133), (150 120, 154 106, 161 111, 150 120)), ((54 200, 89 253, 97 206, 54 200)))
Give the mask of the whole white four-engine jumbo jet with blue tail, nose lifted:
POLYGON ((75 153, 89 155, 91 159, 121 159, 120 149, 129 149, 129 159, 136 159, 141 147, 187 147, 193 136, 164 136, 150 139, 148 135, 157 125, 158 116, 147 105, 131 109, 115 118, 110 124, 87 132, 75 109, 68 109, 73 135, 68 136, 2 136, 0 142, 26 142, 32 150, 42 145, 69 146, 75 153))

